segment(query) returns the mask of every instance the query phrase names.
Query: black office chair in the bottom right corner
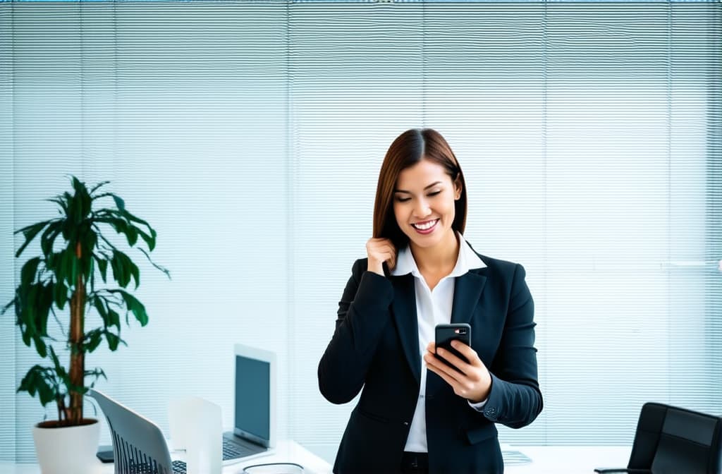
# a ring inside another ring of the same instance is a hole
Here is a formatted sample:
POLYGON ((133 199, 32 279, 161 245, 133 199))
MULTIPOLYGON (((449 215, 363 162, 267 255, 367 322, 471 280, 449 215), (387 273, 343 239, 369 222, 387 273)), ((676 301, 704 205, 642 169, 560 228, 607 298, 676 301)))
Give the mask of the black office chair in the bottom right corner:
POLYGON ((627 468, 596 473, 720 474, 722 417, 645 403, 627 468))

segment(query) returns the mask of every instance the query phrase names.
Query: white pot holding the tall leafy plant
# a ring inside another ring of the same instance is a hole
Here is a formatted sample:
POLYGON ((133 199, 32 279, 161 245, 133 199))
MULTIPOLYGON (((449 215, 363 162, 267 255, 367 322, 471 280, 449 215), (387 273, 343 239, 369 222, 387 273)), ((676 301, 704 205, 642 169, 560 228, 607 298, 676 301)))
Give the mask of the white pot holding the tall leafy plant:
POLYGON ((95 457, 100 423, 64 428, 32 428, 35 454, 43 474, 91 474, 99 470, 95 457))

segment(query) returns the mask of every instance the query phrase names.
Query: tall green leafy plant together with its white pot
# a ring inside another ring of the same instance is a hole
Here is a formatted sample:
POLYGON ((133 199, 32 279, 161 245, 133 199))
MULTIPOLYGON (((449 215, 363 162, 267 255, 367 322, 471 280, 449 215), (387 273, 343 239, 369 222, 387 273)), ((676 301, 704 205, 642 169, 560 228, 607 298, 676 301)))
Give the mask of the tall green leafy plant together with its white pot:
POLYGON ((25 236, 16 258, 38 236, 40 255, 23 264, 15 296, 1 311, 4 314, 14 307, 22 341, 29 347, 34 345, 38 355, 49 362, 32 366, 17 389, 32 397, 38 395, 43 407, 50 402, 57 405, 58 419, 43 421, 33 429, 43 474, 79 474, 95 464, 100 424, 83 418, 83 397, 98 378, 106 377, 103 369, 85 369, 85 355, 104 340, 110 350, 126 344, 121 338, 123 315, 126 324, 130 324, 130 314, 142 326, 148 323, 143 304, 125 289, 131 280, 138 288, 139 268, 110 241, 108 231, 122 234, 130 247, 138 244, 149 262, 170 277, 168 270, 149 256, 155 248, 155 230, 128 212, 123 199, 101 191, 108 181, 90 190, 74 176, 71 182, 73 194, 66 191, 47 199, 58 204, 58 217, 15 232, 25 236), (95 208, 103 199, 115 205, 95 208), (117 285, 111 285, 113 281, 117 285), (63 319, 69 324, 63 324, 63 319), (53 321, 58 329, 49 330, 53 321), (91 321, 97 324, 88 328, 91 321), (57 337, 58 332, 61 337, 57 337), (68 366, 61 363, 53 344, 69 351, 68 366))

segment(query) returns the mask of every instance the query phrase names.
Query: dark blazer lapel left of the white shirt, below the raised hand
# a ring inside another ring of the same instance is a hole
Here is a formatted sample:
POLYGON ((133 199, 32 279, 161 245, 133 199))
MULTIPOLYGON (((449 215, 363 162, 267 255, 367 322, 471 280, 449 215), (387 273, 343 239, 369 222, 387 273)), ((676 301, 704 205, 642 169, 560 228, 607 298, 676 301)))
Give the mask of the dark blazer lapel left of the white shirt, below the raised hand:
POLYGON ((406 361, 416 378, 421 383, 421 356, 419 355, 419 324, 416 313, 416 292, 414 288, 414 277, 400 275, 392 277, 393 283, 393 319, 399 329, 401 345, 404 348, 406 361))

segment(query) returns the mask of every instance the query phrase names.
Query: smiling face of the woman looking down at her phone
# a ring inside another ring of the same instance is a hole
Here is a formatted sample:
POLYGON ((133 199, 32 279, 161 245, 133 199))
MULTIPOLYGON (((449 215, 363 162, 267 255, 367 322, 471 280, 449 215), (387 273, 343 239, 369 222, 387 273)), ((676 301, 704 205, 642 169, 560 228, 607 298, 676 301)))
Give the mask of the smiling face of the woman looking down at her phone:
POLYGON ((421 160, 399 173, 393 193, 393 214, 401 231, 419 247, 432 247, 453 235, 454 202, 461 184, 454 184, 443 166, 421 160))

